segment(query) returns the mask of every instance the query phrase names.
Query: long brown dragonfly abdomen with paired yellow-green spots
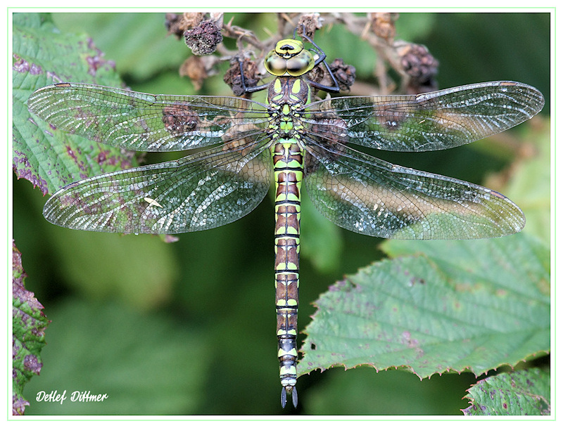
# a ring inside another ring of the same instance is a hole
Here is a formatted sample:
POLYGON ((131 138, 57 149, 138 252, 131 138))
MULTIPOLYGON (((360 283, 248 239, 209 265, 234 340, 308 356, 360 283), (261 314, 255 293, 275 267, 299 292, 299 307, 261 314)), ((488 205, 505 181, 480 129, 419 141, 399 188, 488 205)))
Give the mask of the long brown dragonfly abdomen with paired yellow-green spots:
POLYGON ((272 146, 276 185, 275 286, 279 377, 282 393, 297 403, 297 310, 299 304, 299 233, 303 150, 295 138, 281 138, 272 146))

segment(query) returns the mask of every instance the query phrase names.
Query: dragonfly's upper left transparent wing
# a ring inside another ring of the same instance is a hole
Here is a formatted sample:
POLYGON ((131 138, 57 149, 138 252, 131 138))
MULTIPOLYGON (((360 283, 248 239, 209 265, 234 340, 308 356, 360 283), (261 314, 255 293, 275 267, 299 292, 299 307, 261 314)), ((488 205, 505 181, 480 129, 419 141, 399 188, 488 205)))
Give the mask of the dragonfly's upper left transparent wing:
POLYGON ((265 106, 243 98, 151 95, 80 83, 38 89, 27 107, 71 134, 151 152, 258 138, 267 125, 265 106))

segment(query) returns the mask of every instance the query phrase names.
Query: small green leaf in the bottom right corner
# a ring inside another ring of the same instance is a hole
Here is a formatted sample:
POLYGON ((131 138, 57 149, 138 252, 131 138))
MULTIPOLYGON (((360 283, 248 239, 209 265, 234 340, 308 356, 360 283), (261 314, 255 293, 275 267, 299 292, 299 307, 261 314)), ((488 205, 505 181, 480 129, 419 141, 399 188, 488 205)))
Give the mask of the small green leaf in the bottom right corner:
POLYGON ((466 416, 550 415, 550 375, 539 368, 487 377, 468 392, 466 416))

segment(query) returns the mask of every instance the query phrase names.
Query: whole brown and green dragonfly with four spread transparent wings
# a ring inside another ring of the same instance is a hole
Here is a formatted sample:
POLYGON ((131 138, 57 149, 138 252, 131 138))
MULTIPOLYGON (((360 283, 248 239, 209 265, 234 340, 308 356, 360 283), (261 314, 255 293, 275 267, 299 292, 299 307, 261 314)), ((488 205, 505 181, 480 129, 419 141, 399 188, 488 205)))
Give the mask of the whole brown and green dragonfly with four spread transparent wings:
MULTIPOLYGON (((274 183, 274 285, 281 405, 297 406, 301 189, 330 221, 380 238, 474 239, 517 233, 521 209, 466 181, 384 162, 355 146, 423 152, 514 127, 544 104, 518 82, 468 84, 419 95, 312 100, 338 93, 310 37, 279 41, 265 57, 267 103, 229 96, 151 95, 94 84, 35 91, 30 112, 59 129, 127 150, 194 150, 179 160, 71 183, 46 202, 53 224, 84 231, 203 231, 251 212, 274 183), (305 48, 308 43, 312 47, 305 48), (331 84, 308 78, 323 67, 331 84)), ((242 72, 242 65, 241 65, 242 72)))

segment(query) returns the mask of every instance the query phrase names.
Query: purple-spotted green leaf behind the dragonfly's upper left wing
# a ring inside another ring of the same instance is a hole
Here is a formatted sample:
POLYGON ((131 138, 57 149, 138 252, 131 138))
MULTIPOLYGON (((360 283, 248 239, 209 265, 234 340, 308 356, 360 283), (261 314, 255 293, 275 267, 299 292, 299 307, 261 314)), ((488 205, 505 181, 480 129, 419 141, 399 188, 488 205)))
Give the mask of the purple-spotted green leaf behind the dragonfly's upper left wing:
POLYGON ((44 194, 132 166, 119 148, 59 131, 27 111, 36 89, 57 82, 121 86, 112 62, 84 34, 61 34, 48 15, 13 15, 13 170, 44 194))

